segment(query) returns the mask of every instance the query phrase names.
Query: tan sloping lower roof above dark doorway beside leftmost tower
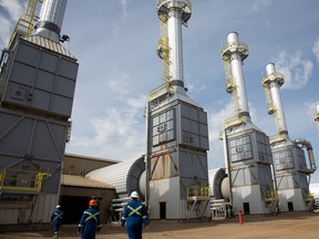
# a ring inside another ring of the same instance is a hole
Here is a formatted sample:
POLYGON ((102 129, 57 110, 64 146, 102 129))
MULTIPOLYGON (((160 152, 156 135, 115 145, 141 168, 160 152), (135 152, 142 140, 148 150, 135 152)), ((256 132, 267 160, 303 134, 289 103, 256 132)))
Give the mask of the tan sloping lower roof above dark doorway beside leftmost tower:
POLYGON ((75 186, 75 187, 91 187, 91 188, 114 188, 105 183, 96 181, 88 177, 81 177, 76 175, 62 175, 62 186, 75 186))

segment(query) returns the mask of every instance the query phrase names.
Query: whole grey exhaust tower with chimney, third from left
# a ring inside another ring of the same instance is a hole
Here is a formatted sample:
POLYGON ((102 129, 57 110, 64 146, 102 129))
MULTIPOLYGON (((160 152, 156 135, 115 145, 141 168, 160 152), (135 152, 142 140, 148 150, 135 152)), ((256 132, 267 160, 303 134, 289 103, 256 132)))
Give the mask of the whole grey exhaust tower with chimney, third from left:
POLYGON ((272 214, 278 198, 274 194, 269 138, 251 123, 243 73, 248 46, 239 42, 237 32, 227 35, 222 56, 226 91, 233 95, 236 111, 234 118, 224 122, 223 132, 230 202, 235 214, 272 214))

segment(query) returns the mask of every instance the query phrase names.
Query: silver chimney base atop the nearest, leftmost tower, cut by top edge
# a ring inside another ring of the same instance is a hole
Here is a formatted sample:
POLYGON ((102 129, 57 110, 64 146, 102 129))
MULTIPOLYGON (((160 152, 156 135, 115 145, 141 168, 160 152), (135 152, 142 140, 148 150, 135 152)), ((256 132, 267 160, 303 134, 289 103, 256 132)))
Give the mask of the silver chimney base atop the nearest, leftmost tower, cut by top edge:
POLYGON ((39 22, 37 24, 37 35, 60 41, 60 33, 68 0, 44 0, 39 22))

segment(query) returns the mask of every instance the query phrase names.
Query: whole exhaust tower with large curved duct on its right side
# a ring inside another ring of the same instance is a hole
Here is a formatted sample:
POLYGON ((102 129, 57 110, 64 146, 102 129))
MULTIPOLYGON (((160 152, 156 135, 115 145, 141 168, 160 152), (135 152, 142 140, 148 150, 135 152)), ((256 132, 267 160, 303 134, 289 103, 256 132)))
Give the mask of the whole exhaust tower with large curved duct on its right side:
POLYGON ((266 65, 263 86, 266 92, 268 114, 275 116, 277 135, 270 137, 274 158, 275 178, 282 211, 311 210, 312 199, 309 194, 310 174, 316 172, 312 146, 308 141, 290 141, 280 96, 284 75, 276 72, 274 63, 266 65), (302 148, 308 152, 309 166, 302 148))

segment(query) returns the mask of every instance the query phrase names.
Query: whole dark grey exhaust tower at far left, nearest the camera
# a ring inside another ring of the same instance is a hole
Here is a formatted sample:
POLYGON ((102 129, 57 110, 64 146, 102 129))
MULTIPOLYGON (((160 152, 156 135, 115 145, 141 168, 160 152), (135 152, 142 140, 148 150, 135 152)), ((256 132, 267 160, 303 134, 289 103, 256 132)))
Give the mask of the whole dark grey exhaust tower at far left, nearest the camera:
POLYGON ((14 37, 0 72, 0 215, 19 215, 3 217, 1 225, 40 229, 50 222, 45 208, 61 202, 79 67, 60 43, 65 6, 66 0, 43 1, 35 34, 14 37))

